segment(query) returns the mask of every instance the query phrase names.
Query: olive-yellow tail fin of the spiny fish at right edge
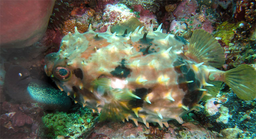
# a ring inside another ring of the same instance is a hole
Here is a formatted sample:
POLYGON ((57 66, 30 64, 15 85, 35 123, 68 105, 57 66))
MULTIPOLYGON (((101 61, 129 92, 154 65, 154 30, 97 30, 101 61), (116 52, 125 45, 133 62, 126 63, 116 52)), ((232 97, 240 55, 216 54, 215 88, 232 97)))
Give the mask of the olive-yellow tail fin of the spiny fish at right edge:
POLYGON ((224 82, 242 100, 256 98, 256 70, 246 64, 239 65, 235 69, 224 73, 224 82))

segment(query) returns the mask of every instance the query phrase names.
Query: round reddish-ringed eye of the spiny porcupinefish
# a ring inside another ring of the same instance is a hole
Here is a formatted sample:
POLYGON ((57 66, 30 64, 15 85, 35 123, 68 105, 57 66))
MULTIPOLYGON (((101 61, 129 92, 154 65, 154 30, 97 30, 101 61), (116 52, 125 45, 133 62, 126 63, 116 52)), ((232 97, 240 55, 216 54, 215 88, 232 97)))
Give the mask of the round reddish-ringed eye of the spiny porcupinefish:
POLYGON ((60 79, 60 80, 66 80, 70 77, 71 72, 70 69, 67 67, 56 67, 54 69, 54 77, 60 79))

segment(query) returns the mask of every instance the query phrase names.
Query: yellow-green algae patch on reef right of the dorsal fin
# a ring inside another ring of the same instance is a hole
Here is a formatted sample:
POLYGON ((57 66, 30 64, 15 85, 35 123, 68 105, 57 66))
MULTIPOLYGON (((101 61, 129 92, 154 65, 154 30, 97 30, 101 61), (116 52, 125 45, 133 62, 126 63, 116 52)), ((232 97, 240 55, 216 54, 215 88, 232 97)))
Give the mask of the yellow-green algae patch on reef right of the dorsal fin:
POLYGON ((243 22, 238 23, 228 23, 227 21, 221 23, 217 26, 215 33, 213 34, 214 37, 220 37, 222 38, 222 42, 224 42, 226 45, 234 39, 234 31, 237 27, 239 27, 239 24, 243 22))

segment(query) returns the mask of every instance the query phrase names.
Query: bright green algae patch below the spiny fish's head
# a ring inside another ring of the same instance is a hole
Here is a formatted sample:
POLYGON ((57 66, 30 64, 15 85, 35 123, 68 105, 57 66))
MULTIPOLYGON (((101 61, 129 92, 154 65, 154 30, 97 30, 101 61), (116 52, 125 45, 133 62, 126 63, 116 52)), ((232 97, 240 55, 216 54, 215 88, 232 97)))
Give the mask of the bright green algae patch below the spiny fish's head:
POLYGON ((40 137, 57 138, 70 137, 76 134, 82 134, 92 127, 94 117, 92 111, 77 106, 71 113, 55 112, 45 114, 42 117, 42 127, 40 127, 40 137))

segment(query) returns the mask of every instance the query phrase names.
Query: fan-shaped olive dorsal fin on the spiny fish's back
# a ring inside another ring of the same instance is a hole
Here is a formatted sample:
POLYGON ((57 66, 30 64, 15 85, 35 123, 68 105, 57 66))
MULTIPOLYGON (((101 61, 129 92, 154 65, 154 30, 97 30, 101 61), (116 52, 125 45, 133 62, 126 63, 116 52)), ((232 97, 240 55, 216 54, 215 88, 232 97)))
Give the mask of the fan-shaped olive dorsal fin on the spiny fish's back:
POLYGON ((225 63, 224 52, 218 41, 202 29, 194 30, 185 55, 197 63, 204 62, 213 67, 221 67, 225 63))

